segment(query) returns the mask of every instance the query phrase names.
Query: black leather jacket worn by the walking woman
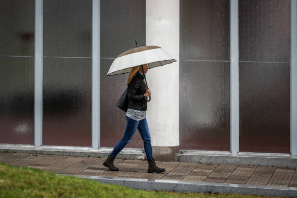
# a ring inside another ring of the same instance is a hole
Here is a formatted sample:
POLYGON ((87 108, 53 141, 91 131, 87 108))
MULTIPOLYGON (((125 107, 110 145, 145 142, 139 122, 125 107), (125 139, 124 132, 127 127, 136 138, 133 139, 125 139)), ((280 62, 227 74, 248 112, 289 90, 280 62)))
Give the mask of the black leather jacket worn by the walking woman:
POLYGON ((129 109, 147 111, 147 103, 144 93, 147 91, 147 85, 143 77, 137 73, 128 84, 129 109))

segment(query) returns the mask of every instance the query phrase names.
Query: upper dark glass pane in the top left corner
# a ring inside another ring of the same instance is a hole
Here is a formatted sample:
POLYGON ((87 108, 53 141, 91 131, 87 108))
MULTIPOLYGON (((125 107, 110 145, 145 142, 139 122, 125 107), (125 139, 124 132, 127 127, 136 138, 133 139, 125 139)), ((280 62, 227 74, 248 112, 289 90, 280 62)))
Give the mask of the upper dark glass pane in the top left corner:
POLYGON ((0 55, 34 55, 34 0, 0 1, 0 55))

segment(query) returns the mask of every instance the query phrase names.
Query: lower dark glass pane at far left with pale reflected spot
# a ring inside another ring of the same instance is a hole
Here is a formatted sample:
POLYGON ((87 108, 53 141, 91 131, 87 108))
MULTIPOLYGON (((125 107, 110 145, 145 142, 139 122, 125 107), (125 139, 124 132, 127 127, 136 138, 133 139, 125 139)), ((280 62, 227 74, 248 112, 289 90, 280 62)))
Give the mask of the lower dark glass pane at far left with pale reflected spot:
POLYGON ((0 143, 34 144, 34 58, 0 57, 0 143))

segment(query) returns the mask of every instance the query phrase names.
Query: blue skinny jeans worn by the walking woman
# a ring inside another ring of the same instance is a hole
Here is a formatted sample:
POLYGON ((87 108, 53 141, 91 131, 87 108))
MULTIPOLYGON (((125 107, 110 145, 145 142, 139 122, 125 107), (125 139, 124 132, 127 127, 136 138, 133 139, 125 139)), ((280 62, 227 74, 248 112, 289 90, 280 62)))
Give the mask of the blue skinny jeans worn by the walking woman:
POLYGON ((111 156, 116 157, 116 155, 129 143, 131 142, 132 136, 136 132, 136 129, 140 132, 140 135, 143 139, 144 148, 146 151, 147 159, 153 159, 152 150, 150 144, 150 135, 148 131, 148 122, 147 118, 144 118, 140 121, 133 120, 132 118, 126 115, 127 126, 124 137, 115 145, 114 150, 111 152, 111 156))

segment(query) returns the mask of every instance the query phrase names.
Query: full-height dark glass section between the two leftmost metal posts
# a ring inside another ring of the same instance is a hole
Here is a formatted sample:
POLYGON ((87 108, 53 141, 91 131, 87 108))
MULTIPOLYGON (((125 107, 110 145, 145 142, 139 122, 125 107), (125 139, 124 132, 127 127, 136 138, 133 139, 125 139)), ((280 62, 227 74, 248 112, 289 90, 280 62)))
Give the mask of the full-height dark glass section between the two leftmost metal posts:
POLYGON ((43 145, 92 144, 91 32, 92 0, 43 0, 43 145))

